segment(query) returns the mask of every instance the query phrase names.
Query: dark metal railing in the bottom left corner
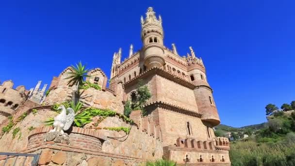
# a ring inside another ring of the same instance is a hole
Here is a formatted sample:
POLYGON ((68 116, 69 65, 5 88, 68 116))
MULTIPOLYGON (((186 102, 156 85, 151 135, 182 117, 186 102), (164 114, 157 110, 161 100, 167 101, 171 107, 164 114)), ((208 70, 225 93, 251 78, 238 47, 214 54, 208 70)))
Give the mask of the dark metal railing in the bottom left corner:
POLYGON ((0 157, 0 163, 3 163, 2 161, 4 161, 2 166, 5 166, 6 164, 8 164, 9 160, 11 160, 11 161, 9 161, 9 166, 25 166, 25 163, 26 163, 28 157, 30 157, 30 158, 33 157, 33 160, 31 162, 31 166, 37 166, 40 154, 0 152, 0 156, 4 156, 4 157, 0 157), (20 160, 23 160, 23 161, 20 161, 20 160), (16 165, 16 162, 17 162, 17 165, 16 165))

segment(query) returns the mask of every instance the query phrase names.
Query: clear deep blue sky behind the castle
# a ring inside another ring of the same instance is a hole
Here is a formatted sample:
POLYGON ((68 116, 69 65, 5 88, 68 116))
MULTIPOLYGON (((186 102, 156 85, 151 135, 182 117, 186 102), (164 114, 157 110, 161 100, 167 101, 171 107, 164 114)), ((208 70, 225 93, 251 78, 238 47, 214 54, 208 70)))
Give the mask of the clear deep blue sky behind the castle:
POLYGON ((142 47, 149 6, 165 46, 203 59, 222 124, 262 123, 266 104, 295 100, 294 0, 1 1, 0 80, 30 89, 80 60, 110 76, 115 51, 142 47))

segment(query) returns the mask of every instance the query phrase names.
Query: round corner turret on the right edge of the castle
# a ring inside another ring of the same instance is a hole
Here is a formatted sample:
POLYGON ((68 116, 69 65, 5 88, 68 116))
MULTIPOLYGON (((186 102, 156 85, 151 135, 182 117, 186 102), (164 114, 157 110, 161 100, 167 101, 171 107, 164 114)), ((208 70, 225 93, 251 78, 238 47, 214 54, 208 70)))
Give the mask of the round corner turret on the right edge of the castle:
POLYGON ((216 105, 213 100, 213 90, 207 82, 206 70, 202 59, 196 57, 195 52, 191 49, 192 56, 187 57, 187 70, 190 81, 197 87, 194 94, 197 102, 199 113, 202 114, 202 120, 216 126, 220 123, 216 105))

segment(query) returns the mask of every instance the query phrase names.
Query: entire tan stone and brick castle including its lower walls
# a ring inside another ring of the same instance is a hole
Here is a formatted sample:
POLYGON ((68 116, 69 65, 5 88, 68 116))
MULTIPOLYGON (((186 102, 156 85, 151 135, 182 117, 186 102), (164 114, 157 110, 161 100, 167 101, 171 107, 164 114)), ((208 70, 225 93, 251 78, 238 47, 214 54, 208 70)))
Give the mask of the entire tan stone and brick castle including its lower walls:
MULTIPOLYGON (((202 59, 196 56, 192 47, 189 47, 190 54, 181 57, 174 44, 172 50, 164 46, 162 18, 156 17, 153 8, 149 7, 146 17, 141 17, 141 27, 142 49, 133 52, 131 45, 129 58, 123 62, 121 49, 114 53, 109 87, 108 78, 100 68, 90 70, 88 75, 91 77, 86 81, 99 85, 101 90, 85 89, 81 100, 86 107, 111 109, 123 114, 124 103, 131 100, 141 80, 151 92, 145 105, 148 115, 143 116, 140 110, 132 111, 132 125, 120 116, 108 117, 98 124, 101 130, 91 128, 92 123, 83 128, 73 127, 69 142, 44 141, 50 127, 44 127, 41 122, 55 114, 50 106, 70 100, 75 89, 75 85, 68 85, 65 79, 67 72, 73 70, 67 67, 58 77, 53 77, 46 99, 38 98, 44 100, 44 105, 31 104, 16 110, 14 119, 28 113, 23 121, 15 121, 19 126, 25 120, 34 119, 35 129, 23 130, 20 138, 22 145, 27 146, 20 150, 19 144, 5 145, 9 133, 2 133, 0 144, 4 148, 0 151, 42 151, 39 165, 71 165, 77 160, 75 166, 82 166, 82 163, 87 166, 129 166, 164 158, 183 166, 230 166, 229 140, 216 137, 213 132, 220 119, 202 59), (38 110, 37 115, 30 114, 33 109, 38 110), (131 131, 129 134, 117 133, 104 130, 105 126, 131 126, 131 131), (64 161, 59 163, 57 155, 65 158, 64 161)), ((23 87, 16 89, 25 91, 23 87)), ((44 90, 40 94, 44 94, 44 90)), ((35 91, 38 90, 33 90, 33 94, 35 91)), ((6 119, 0 127, 8 123, 6 119)))

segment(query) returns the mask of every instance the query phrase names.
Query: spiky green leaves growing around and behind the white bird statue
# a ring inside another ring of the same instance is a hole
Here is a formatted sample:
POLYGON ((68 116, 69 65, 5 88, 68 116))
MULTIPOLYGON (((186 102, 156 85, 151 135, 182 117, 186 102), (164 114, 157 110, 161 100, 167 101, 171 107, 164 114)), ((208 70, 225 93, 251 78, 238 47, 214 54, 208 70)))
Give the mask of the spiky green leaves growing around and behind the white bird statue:
MULTIPOLYGON (((73 126, 82 127, 85 124, 91 122, 91 118, 93 117, 93 115, 88 111, 84 111, 84 109, 82 108, 83 103, 81 101, 78 101, 77 104, 75 104, 73 101, 64 102, 62 104, 55 104, 53 105, 52 109, 54 109, 54 111, 56 111, 57 113, 60 113, 61 111, 57 109, 60 105, 64 105, 66 108, 72 108, 74 110, 75 118, 73 126)), ((50 117, 47 121, 45 121, 47 126, 52 126, 53 122, 53 117, 50 117)))

